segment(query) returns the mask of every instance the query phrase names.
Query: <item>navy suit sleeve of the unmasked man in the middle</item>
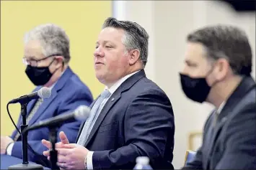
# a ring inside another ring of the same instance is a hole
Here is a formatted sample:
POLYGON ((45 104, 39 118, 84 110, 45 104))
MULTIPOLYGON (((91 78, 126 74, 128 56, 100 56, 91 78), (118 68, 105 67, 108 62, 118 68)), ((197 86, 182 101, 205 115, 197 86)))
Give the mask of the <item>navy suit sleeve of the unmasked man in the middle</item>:
POLYGON ((167 96, 156 90, 137 95, 126 110, 124 131, 125 146, 94 151, 94 169, 132 169, 125 164, 135 165, 137 156, 148 156, 154 162, 163 158, 167 138, 173 138, 175 132, 172 105, 167 96))

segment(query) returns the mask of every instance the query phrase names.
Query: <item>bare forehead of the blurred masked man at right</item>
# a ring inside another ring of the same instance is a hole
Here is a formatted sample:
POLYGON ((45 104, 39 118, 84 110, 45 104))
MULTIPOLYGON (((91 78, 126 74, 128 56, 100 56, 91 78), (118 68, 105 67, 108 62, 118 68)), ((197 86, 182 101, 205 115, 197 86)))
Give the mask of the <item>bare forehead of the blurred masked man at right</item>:
POLYGON ((196 42, 187 42, 185 50, 185 61, 202 62, 206 60, 206 49, 203 44, 196 42))

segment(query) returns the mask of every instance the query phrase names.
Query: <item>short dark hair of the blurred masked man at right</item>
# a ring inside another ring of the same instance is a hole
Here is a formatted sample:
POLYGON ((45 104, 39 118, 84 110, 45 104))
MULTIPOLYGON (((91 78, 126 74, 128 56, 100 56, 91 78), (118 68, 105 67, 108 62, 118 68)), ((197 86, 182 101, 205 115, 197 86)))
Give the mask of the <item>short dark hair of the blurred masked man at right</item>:
POLYGON ((220 24, 203 27, 188 34, 187 41, 203 44, 211 61, 228 60, 234 74, 252 72, 252 49, 247 34, 238 27, 220 24))

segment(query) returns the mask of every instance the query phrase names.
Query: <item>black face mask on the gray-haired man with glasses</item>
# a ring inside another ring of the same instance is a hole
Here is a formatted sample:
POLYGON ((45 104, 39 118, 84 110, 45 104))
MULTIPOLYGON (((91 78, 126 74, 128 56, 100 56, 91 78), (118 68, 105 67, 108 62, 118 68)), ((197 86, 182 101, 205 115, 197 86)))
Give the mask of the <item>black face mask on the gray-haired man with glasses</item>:
MULTIPOLYGON (((54 60, 53 60, 54 61, 54 60)), ((50 62, 50 65, 53 62, 50 62)), ((49 67, 32 67, 31 65, 27 65, 25 70, 27 77, 29 77, 30 81, 34 85, 45 85, 49 80, 50 77, 53 76, 53 73, 50 72, 49 67)))

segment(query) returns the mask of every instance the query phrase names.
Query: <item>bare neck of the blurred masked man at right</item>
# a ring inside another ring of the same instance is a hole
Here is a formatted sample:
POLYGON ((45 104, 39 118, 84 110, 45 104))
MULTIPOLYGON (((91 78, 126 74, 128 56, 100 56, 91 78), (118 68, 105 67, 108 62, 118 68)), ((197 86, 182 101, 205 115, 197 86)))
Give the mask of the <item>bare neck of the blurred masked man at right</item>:
POLYGON ((234 76, 226 80, 225 82, 221 82, 221 84, 216 85, 216 88, 212 90, 211 97, 209 95, 209 103, 212 103, 216 108, 219 108, 221 103, 228 100, 230 95, 237 88, 239 83, 242 81, 242 77, 234 76))

